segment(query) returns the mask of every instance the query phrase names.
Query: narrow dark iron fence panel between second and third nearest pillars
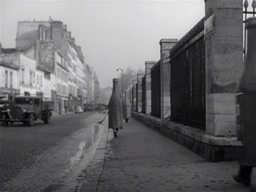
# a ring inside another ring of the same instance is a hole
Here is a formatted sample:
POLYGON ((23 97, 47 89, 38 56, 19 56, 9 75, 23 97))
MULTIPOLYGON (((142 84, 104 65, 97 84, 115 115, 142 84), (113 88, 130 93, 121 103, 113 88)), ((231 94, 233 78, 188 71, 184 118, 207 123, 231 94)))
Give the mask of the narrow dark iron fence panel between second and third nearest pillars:
POLYGON ((151 115, 161 117, 160 60, 151 68, 151 115))

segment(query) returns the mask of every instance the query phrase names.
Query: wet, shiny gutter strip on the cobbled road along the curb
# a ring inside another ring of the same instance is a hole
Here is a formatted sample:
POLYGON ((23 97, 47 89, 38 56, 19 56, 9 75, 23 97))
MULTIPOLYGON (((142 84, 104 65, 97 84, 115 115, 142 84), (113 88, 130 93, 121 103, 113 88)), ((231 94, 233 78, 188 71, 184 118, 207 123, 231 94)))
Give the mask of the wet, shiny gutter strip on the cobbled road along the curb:
POLYGON ((103 131, 102 125, 92 126, 90 133, 87 132, 84 140, 79 144, 77 153, 70 159, 70 166, 65 170, 66 176, 58 184, 51 184, 45 188, 45 192, 79 191, 103 131))

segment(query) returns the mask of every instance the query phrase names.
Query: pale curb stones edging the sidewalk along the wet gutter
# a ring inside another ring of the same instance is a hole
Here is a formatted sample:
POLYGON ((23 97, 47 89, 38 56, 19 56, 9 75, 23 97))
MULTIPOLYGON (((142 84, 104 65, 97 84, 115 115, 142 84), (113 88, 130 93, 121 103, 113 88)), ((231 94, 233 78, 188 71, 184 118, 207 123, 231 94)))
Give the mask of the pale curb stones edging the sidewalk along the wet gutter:
POLYGON ((104 121, 104 132, 102 138, 100 138, 99 145, 92 159, 92 162, 88 166, 85 179, 82 186, 80 186, 80 192, 97 191, 100 175, 103 171, 105 162, 105 150, 107 147, 107 140, 109 138, 109 129, 107 128, 107 120, 104 121))

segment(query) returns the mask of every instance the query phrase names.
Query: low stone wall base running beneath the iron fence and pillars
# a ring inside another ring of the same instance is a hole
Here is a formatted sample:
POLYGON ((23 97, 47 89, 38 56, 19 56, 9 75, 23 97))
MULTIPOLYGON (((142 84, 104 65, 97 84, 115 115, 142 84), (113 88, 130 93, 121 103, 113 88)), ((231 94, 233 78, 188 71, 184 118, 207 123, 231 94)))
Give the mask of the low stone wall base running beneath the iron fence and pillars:
POLYGON ((166 137, 198 153, 204 158, 217 161, 237 160, 242 145, 236 137, 214 137, 204 130, 174 122, 161 122, 159 118, 132 112, 132 117, 149 126, 166 137))

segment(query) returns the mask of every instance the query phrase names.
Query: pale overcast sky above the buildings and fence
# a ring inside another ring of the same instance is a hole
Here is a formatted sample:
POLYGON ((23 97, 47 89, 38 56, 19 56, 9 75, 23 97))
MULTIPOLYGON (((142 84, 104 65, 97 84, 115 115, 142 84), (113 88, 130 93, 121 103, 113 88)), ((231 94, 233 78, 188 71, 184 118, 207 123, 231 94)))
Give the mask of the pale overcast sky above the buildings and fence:
POLYGON ((4 48, 15 47, 19 20, 61 20, 102 88, 112 86, 118 67, 144 69, 145 61, 159 60, 160 39, 180 39, 204 17, 204 0, 0 1, 4 48))

